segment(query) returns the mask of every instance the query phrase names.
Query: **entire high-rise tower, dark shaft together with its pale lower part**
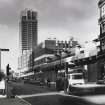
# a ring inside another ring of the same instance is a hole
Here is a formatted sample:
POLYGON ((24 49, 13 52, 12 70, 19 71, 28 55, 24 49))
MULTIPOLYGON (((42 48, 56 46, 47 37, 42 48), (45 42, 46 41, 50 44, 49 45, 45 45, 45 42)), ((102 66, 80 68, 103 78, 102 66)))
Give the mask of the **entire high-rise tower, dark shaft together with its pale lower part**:
POLYGON ((34 48, 37 46, 37 12, 25 9, 21 12, 19 22, 20 56, 18 57, 18 70, 20 74, 33 69, 34 48))

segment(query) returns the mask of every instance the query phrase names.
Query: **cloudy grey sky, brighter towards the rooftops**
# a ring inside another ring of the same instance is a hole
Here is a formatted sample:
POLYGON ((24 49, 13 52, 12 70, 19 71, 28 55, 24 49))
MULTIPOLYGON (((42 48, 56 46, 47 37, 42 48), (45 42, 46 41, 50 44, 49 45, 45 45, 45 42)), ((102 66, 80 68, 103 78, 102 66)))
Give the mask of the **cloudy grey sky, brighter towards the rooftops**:
POLYGON ((73 36, 80 42, 99 35, 98 0, 0 0, 0 48, 2 68, 9 63, 17 69, 19 56, 19 19, 25 8, 38 12, 38 42, 51 37, 67 40, 73 36))

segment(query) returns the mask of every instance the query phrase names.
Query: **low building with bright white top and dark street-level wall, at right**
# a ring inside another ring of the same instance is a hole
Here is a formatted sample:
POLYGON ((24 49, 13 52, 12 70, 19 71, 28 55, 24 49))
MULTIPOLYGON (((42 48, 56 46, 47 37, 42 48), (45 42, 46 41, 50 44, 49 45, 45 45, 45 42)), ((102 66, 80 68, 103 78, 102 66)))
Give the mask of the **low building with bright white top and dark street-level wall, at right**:
POLYGON ((96 82, 98 75, 97 54, 99 48, 94 41, 86 42, 82 48, 76 48, 75 64, 83 67, 87 82, 96 82), (94 76, 93 76, 94 75, 94 76))

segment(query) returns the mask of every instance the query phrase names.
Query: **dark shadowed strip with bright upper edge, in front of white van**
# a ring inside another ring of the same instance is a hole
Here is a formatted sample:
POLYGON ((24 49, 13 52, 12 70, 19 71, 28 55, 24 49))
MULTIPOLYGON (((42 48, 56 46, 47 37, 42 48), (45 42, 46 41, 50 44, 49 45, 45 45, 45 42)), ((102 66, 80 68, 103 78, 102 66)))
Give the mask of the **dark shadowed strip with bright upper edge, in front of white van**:
POLYGON ((104 84, 84 84, 70 86, 70 92, 78 96, 105 94, 104 84))

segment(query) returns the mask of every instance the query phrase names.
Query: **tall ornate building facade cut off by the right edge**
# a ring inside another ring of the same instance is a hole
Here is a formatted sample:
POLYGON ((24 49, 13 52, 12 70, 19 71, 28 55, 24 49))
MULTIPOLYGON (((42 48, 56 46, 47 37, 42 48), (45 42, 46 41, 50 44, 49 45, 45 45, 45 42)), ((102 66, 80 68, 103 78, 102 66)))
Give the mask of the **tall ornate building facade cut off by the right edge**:
POLYGON ((98 80, 101 81, 105 77, 105 0, 99 0, 98 7, 100 11, 99 25, 100 35, 100 51, 98 53, 98 80))

